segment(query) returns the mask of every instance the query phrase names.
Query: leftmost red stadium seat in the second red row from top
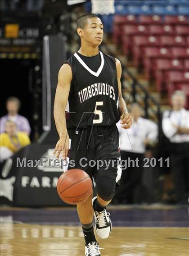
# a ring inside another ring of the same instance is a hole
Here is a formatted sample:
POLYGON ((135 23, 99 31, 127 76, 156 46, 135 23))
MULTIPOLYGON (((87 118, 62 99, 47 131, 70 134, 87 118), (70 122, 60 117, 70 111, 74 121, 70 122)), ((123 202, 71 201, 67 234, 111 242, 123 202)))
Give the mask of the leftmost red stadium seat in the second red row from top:
POLYGON ((133 36, 135 35, 148 35, 148 26, 144 25, 124 25, 123 34, 121 36, 122 50, 127 54, 130 46, 133 44, 133 36))

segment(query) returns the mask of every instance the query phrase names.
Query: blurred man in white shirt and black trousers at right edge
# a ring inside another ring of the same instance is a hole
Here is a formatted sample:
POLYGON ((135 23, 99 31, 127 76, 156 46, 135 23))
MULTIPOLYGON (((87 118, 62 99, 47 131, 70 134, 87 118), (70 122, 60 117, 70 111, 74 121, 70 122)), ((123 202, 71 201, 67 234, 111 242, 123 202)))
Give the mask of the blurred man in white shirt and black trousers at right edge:
POLYGON ((188 203, 189 197, 189 111, 184 109, 183 91, 171 96, 171 111, 165 111, 162 129, 171 142, 171 171, 178 203, 188 203))

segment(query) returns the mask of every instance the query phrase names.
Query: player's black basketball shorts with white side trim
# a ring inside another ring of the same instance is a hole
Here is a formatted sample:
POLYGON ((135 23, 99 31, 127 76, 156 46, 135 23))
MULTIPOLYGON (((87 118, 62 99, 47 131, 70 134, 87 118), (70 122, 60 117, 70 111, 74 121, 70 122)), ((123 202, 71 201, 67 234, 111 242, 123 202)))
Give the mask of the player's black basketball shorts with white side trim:
POLYGON ((101 175, 119 184, 121 165, 116 125, 71 128, 68 134, 71 139, 68 169, 82 169, 91 179, 101 175))

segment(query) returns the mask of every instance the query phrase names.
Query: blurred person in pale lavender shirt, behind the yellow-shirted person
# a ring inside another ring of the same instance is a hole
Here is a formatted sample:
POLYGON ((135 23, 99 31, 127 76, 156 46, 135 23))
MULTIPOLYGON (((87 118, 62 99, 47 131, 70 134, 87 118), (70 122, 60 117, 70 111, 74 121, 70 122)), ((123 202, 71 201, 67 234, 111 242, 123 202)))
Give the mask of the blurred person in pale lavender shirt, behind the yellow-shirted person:
POLYGON ((31 128, 28 120, 24 116, 18 114, 20 105, 20 101, 16 97, 10 97, 7 99, 6 107, 8 114, 4 115, 0 119, 0 133, 4 133, 5 122, 7 120, 11 120, 17 124, 19 132, 27 133, 27 135, 30 134, 31 128))

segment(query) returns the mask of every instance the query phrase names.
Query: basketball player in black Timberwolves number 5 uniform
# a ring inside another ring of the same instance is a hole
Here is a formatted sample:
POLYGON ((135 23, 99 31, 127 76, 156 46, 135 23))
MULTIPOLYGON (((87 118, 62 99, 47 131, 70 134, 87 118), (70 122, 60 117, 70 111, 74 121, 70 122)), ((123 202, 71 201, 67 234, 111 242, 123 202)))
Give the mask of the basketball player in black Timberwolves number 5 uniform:
POLYGON ((77 204, 77 212, 85 237, 85 256, 99 256, 93 215, 97 235, 108 238, 112 224, 106 206, 121 178, 116 123, 121 118, 122 127, 128 129, 132 118, 121 96, 121 64, 118 59, 99 51, 103 40, 100 18, 94 14, 82 15, 77 20, 77 33, 81 38, 81 48, 58 73, 54 119, 60 139, 54 154, 57 157, 62 154, 66 159, 70 138, 69 159, 74 160, 75 165, 69 165, 68 169, 83 169, 96 182, 97 197, 92 199, 91 195, 87 201, 77 204), (68 119, 65 117, 67 101, 68 119), (102 160, 103 165, 97 169, 90 166, 90 160, 102 160), (108 161, 107 169, 105 162, 108 161))

